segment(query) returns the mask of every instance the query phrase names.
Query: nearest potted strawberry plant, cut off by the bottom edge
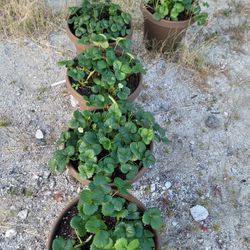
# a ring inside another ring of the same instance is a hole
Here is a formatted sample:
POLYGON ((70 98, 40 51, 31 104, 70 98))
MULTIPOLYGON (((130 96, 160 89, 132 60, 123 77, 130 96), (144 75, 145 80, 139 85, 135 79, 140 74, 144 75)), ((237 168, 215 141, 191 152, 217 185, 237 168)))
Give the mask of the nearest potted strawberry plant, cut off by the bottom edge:
POLYGON ((160 250, 158 208, 111 190, 104 176, 71 202, 54 224, 46 250, 160 250))

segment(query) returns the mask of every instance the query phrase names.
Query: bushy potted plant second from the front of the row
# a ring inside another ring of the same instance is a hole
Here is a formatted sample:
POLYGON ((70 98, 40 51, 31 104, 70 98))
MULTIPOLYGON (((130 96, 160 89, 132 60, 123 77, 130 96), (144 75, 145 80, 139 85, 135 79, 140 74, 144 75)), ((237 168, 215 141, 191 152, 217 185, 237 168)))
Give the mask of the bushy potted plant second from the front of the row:
MULTIPOLYGON (((114 100, 113 100, 114 101, 114 100)), ((69 129, 58 140, 50 169, 70 174, 84 185, 97 174, 119 186, 133 183, 155 163, 153 141, 167 142, 165 131, 151 113, 115 101, 103 111, 76 111, 69 129)))

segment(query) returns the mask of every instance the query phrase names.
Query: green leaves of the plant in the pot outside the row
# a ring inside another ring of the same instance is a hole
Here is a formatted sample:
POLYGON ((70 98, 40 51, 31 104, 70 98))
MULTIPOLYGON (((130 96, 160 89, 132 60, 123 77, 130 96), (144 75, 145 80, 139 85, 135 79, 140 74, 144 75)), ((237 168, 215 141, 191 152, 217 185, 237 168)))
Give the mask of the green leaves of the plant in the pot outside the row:
MULTIPOLYGON (((201 11, 199 0, 144 0, 145 5, 153 9, 153 17, 156 21, 163 19, 181 21, 183 17, 193 18, 198 25, 206 23, 208 14, 201 11)), ((203 2, 208 7, 207 2, 203 2)))

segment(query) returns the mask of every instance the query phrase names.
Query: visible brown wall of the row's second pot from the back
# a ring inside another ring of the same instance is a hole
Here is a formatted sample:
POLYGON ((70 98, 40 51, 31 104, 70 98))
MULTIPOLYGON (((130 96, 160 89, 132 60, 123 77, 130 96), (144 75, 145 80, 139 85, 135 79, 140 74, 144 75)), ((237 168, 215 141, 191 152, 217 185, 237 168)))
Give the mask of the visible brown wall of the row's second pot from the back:
MULTIPOLYGON (((70 79, 68 77, 68 74, 66 75, 66 87, 70 95, 72 95, 79 103, 80 110, 97 110, 96 107, 89 107, 87 106, 87 102, 84 100, 83 96, 81 96, 71 85, 70 79)), ((142 91, 142 75, 140 74, 140 80, 139 84, 136 88, 136 90, 128 97, 128 101, 134 101, 142 91)))

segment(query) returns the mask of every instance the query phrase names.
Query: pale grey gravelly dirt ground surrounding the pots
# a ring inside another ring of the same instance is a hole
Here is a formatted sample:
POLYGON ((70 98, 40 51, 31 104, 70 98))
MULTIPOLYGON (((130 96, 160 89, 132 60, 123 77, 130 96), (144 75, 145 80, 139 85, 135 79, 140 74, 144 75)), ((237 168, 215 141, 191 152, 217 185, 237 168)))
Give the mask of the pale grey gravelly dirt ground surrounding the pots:
MULTIPOLYGON (((133 36, 147 69, 137 103, 154 113, 170 143, 155 146, 157 164, 131 192, 161 209, 164 250, 250 249, 249 1, 210 6, 208 25, 191 27, 179 54, 148 52, 140 22, 133 36), (195 205, 208 210, 206 220, 191 216, 195 205)), ((64 32, 22 46, 0 41, 2 250, 43 250, 57 213, 81 190, 47 168, 74 110, 65 86, 51 84, 65 76, 57 61, 73 55, 64 32)))

